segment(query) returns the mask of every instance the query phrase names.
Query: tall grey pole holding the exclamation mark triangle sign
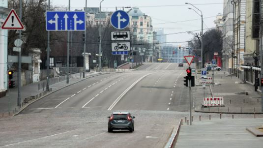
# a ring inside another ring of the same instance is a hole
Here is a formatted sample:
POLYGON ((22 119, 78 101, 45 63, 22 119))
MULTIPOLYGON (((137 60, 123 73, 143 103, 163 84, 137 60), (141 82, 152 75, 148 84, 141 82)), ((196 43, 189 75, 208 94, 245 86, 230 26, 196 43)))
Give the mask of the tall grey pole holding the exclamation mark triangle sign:
MULTIPOLYGON (((22 21, 22 0, 19 0, 19 19, 22 21)), ((19 38, 22 39, 22 31, 19 30, 19 38)), ((21 52, 18 52, 18 92, 17 92, 17 106, 21 107, 21 52)))

